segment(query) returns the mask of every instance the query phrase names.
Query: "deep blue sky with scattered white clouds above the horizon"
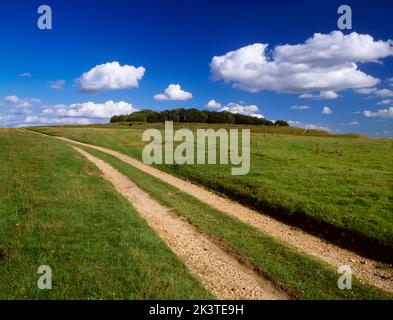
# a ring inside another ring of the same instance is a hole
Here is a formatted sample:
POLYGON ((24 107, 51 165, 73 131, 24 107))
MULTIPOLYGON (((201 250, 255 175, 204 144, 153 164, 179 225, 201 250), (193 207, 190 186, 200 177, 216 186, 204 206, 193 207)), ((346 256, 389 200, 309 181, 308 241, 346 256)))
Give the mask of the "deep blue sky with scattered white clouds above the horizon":
POLYGON ((393 137, 392 12, 389 0, 2 1, 0 126, 215 100, 215 110, 393 137), (37 27, 42 4, 52 30, 37 27), (353 29, 339 34, 341 4, 353 29))

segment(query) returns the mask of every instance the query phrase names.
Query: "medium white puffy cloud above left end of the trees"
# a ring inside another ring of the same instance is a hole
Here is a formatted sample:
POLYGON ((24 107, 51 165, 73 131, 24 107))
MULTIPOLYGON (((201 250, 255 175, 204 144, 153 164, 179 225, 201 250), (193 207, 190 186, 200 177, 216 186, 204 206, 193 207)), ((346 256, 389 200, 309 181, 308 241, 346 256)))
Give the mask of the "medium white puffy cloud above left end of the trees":
POLYGON ((145 74, 144 67, 120 65, 119 62, 100 64, 77 79, 81 91, 104 91, 137 88, 145 74))

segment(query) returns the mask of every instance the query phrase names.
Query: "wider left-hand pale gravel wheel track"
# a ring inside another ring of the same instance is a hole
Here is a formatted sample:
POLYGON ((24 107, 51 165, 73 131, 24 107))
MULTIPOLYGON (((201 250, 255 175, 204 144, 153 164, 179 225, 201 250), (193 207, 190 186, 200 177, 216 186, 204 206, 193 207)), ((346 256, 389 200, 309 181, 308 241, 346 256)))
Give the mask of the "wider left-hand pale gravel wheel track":
POLYGON ((171 214, 128 177, 86 151, 73 147, 94 163, 115 189, 127 198, 147 223, 220 299, 288 299, 268 280, 241 265, 189 223, 171 214))

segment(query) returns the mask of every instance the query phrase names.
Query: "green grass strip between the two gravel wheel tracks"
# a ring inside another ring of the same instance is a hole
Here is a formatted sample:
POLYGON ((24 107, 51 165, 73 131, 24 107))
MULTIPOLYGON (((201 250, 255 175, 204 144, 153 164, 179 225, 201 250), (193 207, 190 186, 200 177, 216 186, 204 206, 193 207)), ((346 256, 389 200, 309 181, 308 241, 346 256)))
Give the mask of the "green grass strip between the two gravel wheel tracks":
POLYGON ((392 299, 380 290, 353 282, 352 290, 337 287, 338 273, 330 266, 263 235, 175 187, 122 161, 84 148, 128 176, 153 198, 172 209, 241 262, 285 289, 296 299, 392 299))

